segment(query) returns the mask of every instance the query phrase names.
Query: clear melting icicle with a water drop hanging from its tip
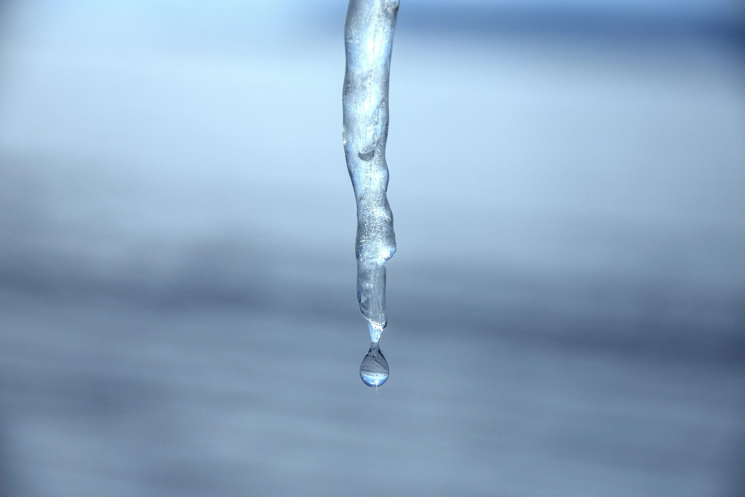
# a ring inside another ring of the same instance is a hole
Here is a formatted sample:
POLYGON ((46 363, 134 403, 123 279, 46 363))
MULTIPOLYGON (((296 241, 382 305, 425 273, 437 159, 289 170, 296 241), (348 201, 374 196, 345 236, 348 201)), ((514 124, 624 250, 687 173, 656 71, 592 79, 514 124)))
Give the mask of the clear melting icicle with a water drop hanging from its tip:
POLYGON ((349 0, 344 22, 346 72, 343 140, 357 201, 357 300, 370 323, 370 352, 360 366, 365 384, 380 386, 388 363, 378 347, 387 326, 385 265, 396 252, 393 214, 386 191, 388 80, 399 0, 349 0))

